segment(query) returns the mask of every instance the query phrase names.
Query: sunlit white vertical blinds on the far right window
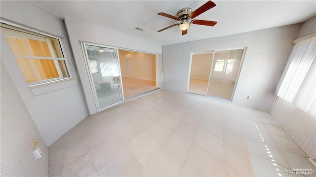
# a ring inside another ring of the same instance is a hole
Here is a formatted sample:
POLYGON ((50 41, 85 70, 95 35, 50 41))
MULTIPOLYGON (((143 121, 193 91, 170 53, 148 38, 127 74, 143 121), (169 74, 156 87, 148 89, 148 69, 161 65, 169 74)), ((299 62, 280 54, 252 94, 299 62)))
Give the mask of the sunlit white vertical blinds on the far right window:
POLYGON ((316 37, 295 43, 279 83, 277 96, 311 116, 316 114, 316 37))

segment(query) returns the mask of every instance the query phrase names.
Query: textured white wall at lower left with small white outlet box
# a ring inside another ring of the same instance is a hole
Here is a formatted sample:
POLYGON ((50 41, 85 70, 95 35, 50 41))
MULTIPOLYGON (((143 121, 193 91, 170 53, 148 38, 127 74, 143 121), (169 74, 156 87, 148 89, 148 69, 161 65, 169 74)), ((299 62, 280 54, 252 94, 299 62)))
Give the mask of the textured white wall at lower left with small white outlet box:
POLYGON ((0 94, 1 177, 46 177, 47 147, 2 59, 0 94), (32 152, 34 138, 43 153, 39 160, 32 152))

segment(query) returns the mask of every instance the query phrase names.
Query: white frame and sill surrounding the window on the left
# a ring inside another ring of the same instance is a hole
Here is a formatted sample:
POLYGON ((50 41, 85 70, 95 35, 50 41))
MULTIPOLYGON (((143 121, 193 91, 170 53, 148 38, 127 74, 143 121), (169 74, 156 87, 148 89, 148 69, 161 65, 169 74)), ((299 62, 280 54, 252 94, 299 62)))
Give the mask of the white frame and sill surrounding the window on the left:
MULTIPOLYGON (((66 36, 61 37, 60 35, 53 35, 49 32, 41 32, 40 29, 31 29, 30 27, 26 27, 24 25, 20 25, 15 22, 7 21, 5 19, 0 19, 0 23, 58 39, 59 44, 61 46, 61 51, 63 52, 64 58, 65 58, 65 63, 66 63, 68 74, 69 74, 68 78, 28 86, 27 83, 25 82, 25 78, 22 74, 20 67, 18 66, 17 61, 15 60, 13 53, 12 52, 1 53, 1 60, 7 67, 14 84, 18 88, 21 95, 29 96, 28 93, 31 93, 32 96, 37 96, 37 95, 49 93, 52 91, 66 89, 75 85, 79 85, 79 81, 76 75, 75 63, 72 61, 71 48, 68 45, 69 41, 67 40, 66 36)), ((5 36, 1 30, 0 30, 0 33, 1 33, 1 38, 5 39, 5 36)), ((0 41, 1 41, 1 50, 3 49, 6 51, 11 51, 11 48, 6 40, 0 40, 0 41)))

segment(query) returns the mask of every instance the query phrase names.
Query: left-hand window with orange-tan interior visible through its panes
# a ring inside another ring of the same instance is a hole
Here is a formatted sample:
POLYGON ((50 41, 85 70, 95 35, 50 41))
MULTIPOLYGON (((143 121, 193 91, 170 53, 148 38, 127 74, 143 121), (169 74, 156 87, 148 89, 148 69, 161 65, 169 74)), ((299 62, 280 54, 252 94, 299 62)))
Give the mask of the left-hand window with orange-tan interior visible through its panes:
POLYGON ((28 85, 69 78, 59 39, 1 24, 28 85))

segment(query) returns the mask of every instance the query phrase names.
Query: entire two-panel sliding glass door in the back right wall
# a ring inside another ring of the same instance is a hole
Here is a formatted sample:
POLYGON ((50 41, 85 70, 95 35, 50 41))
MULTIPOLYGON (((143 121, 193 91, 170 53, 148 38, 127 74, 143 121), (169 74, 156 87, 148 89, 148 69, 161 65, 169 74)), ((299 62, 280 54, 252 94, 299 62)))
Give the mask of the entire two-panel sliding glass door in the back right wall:
POLYGON ((245 48, 193 53, 187 91, 232 100, 244 54, 245 48))

